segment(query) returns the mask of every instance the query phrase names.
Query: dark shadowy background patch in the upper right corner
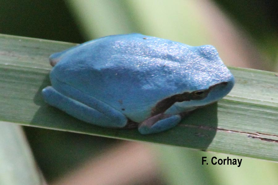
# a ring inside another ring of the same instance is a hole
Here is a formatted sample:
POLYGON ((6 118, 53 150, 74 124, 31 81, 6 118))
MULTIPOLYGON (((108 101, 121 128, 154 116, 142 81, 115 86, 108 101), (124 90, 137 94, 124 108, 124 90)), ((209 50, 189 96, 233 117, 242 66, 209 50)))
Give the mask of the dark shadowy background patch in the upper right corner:
POLYGON ((236 21, 249 31, 255 39, 262 35, 278 36, 278 2, 277 1, 228 1, 214 0, 236 21))

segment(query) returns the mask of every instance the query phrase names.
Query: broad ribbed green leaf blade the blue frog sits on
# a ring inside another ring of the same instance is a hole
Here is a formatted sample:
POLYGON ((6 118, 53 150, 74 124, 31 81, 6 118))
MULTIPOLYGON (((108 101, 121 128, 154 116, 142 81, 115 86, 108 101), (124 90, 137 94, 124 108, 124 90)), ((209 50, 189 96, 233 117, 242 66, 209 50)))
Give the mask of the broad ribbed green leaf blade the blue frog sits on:
POLYGON ((273 72, 231 68, 236 84, 228 96, 196 110, 159 134, 107 129, 79 121, 47 105, 48 56, 72 43, 0 35, 0 121, 278 161, 278 77, 273 72))

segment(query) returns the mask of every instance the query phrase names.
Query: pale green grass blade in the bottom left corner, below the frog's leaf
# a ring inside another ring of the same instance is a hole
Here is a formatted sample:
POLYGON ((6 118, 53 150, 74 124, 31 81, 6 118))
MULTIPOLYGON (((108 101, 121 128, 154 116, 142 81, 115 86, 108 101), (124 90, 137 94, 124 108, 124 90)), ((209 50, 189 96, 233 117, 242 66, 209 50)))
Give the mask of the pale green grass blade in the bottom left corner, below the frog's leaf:
POLYGON ((21 126, 1 121, 0 126, 0 184, 43 184, 21 126))

